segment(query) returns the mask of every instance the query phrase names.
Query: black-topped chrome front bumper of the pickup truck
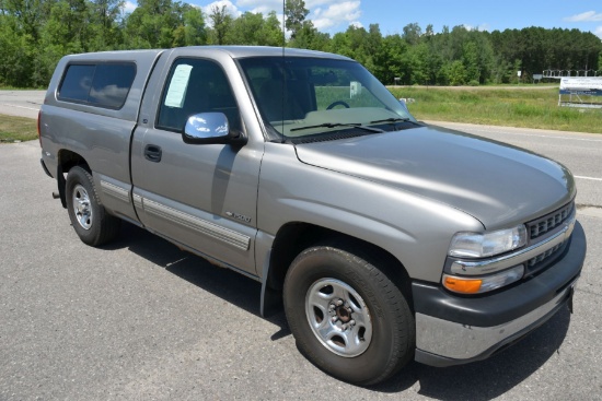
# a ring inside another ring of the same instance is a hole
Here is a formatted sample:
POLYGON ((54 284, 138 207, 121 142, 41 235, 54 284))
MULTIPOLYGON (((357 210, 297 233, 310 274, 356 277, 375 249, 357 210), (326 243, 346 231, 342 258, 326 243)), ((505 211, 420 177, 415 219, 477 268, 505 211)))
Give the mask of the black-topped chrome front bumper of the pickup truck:
POLYGON ((432 366, 465 364, 520 340, 572 299, 586 249, 583 228, 576 223, 559 260, 507 291, 459 297, 440 286, 413 283, 416 361, 432 366))

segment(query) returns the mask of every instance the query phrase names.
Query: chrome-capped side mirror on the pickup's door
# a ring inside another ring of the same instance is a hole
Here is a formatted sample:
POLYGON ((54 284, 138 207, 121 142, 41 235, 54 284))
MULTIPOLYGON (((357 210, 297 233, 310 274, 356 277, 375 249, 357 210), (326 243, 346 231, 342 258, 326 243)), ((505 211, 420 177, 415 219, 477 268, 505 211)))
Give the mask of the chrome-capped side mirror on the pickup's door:
POLYGON ((200 113, 188 117, 182 139, 190 144, 232 144, 242 146, 246 137, 230 130, 223 113, 200 113))

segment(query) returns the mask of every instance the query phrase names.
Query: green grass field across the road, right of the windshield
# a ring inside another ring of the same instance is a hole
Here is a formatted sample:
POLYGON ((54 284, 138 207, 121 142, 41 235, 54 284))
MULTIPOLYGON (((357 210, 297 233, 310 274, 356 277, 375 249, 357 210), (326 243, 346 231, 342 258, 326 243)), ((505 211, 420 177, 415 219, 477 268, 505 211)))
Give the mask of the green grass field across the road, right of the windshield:
POLYGON ((420 120, 602 133, 602 109, 558 107, 558 89, 392 87, 420 120))

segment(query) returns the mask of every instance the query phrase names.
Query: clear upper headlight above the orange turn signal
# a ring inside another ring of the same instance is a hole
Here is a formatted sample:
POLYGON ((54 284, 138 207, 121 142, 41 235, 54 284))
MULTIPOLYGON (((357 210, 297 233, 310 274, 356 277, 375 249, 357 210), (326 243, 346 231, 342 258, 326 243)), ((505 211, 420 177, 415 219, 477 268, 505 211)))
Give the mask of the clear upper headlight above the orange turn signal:
POLYGON ((508 252, 526 244, 526 228, 513 228, 491 233, 458 233, 453 236, 449 256, 456 258, 487 258, 508 252))

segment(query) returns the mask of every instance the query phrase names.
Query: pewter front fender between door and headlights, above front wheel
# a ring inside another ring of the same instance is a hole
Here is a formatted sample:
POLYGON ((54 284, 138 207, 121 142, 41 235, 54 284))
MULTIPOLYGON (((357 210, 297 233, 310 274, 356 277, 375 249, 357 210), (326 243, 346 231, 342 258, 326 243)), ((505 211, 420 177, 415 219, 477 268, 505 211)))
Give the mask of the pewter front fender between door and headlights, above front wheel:
POLYGON ((482 231, 449 205, 362 178, 301 163, 290 144, 266 143, 257 222, 275 236, 303 222, 366 240, 396 257, 414 280, 439 282, 451 237, 482 231))

